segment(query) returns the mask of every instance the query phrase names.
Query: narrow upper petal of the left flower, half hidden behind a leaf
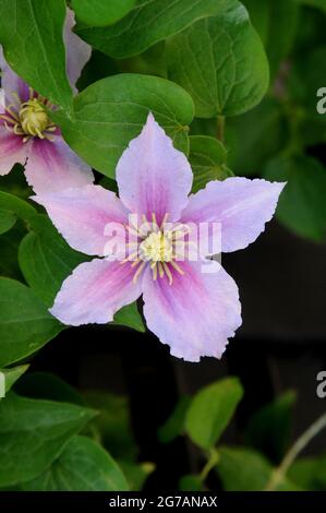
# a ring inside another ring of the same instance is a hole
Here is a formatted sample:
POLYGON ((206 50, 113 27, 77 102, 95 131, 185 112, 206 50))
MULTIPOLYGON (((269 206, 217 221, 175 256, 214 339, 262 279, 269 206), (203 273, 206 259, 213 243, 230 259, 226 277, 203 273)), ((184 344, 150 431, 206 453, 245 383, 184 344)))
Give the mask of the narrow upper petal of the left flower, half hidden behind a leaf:
POLYGON ((71 9, 67 10, 67 17, 64 23, 63 39, 67 49, 67 74, 70 80, 70 85, 76 93, 75 84, 81 76, 82 70, 92 55, 92 48, 87 43, 83 41, 72 31, 75 25, 74 12, 71 9))

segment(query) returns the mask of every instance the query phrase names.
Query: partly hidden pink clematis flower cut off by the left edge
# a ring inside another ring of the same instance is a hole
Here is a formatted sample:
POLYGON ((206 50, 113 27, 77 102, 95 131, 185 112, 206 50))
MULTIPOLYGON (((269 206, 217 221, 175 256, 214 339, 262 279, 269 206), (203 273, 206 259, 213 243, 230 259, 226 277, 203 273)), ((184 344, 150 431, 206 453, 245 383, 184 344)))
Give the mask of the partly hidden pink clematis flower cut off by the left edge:
MULTIPOLYGON (((73 12, 68 10, 63 34, 67 72, 76 91, 75 82, 90 57, 90 47, 72 32, 73 25, 73 12)), ((70 150, 49 119, 46 108, 53 108, 51 103, 11 70, 2 52, 0 68, 0 176, 8 175, 20 163, 35 192, 92 183, 92 169, 70 150)))

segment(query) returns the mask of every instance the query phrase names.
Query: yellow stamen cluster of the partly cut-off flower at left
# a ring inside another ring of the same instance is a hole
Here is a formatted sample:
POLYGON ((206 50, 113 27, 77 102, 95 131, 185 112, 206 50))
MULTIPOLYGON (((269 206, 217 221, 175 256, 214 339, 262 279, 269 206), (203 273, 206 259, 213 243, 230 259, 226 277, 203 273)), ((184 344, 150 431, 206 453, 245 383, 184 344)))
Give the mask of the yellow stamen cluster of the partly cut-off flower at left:
POLYGON ((23 135, 23 142, 31 138, 51 140, 51 132, 56 126, 47 115, 46 108, 51 104, 43 96, 35 97, 34 91, 29 90, 29 99, 21 103, 16 94, 12 95, 15 102, 5 107, 5 114, 0 115, 7 129, 16 135, 23 135))

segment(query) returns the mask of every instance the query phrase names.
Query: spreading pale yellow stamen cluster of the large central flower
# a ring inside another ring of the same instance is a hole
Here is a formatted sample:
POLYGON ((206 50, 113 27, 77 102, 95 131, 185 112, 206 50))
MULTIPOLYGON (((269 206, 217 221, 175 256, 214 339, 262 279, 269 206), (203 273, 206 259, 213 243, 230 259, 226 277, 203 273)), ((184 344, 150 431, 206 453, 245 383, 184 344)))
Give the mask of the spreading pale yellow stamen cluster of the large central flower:
POLYGON ((136 283, 147 263, 152 269, 154 281, 158 276, 164 278, 166 275, 169 284, 172 285, 172 270, 179 274, 184 274, 176 260, 178 259, 177 242, 180 241, 181 237, 184 237, 186 232, 184 231, 185 227, 183 225, 176 225, 171 229, 165 229, 167 218, 168 215, 165 216, 161 225, 158 226, 155 214, 152 214, 150 222, 143 216, 143 224, 140 229, 126 226, 137 240, 130 244, 135 247, 135 251, 132 251, 121 263, 132 262, 132 267, 136 267, 133 277, 134 283, 136 283))

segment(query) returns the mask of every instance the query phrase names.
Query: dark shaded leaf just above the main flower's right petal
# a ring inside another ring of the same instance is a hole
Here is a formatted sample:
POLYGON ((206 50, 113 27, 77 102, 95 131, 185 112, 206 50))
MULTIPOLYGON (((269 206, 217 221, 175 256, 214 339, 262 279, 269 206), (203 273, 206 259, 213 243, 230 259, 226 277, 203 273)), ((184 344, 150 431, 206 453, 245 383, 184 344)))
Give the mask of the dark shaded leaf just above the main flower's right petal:
POLYGON ((232 147, 229 165, 236 175, 261 175, 266 162, 289 140, 289 127, 280 103, 266 97, 250 112, 228 119, 226 140, 232 147))

